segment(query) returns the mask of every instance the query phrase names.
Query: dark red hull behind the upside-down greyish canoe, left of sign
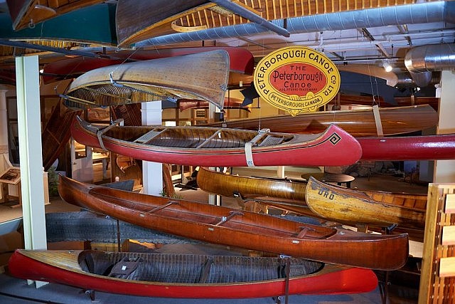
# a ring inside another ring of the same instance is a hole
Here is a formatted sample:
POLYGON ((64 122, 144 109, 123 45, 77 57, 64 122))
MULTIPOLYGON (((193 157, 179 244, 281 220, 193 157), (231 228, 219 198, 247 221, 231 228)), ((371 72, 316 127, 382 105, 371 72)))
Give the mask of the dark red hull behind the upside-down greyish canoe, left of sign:
POLYGON ((121 64, 126 60, 144 61, 215 50, 225 50, 228 52, 230 59, 230 71, 248 75, 253 73, 255 58, 247 49, 229 46, 206 46, 193 48, 163 48, 147 51, 119 51, 117 53, 107 54, 107 56, 112 56, 112 59, 87 57, 65 58, 63 60, 45 65, 43 71, 43 82, 52 83, 53 81, 63 80, 66 78, 75 78, 89 70, 102 68, 108 65, 121 64))

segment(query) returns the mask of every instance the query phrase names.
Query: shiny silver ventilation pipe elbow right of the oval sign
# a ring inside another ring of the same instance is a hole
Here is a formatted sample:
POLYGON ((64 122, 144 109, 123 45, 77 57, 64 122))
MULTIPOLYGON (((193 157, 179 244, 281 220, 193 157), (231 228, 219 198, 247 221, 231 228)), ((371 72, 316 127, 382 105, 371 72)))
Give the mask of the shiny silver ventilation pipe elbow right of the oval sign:
POLYGON ((419 87, 432 82, 432 72, 455 69, 455 44, 417 46, 406 53, 405 65, 419 87))

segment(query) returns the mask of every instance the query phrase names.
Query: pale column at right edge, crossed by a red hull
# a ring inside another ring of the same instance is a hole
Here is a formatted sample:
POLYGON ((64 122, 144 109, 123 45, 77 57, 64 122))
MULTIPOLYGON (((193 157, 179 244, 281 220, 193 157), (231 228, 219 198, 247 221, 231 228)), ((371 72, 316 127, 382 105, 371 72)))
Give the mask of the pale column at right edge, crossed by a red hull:
MULTIPOLYGON (((439 99, 439 125, 437 134, 455 133, 455 73, 441 72, 441 96, 439 99)), ((435 183, 455 182, 455 159, 434 162, 435 183)))

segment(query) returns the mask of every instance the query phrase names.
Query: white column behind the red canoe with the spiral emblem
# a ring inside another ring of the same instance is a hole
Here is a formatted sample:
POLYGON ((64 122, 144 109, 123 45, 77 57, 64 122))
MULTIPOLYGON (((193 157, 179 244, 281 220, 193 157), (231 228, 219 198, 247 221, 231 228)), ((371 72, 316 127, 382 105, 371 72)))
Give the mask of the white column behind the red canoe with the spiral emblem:
MULTIPOLYGON (((161 101, 141 103, 142 125, 161 125, 161 101)), ((163 164, 161 162, 142 162, 143 193, 161 195, 163 191, 163 164)))

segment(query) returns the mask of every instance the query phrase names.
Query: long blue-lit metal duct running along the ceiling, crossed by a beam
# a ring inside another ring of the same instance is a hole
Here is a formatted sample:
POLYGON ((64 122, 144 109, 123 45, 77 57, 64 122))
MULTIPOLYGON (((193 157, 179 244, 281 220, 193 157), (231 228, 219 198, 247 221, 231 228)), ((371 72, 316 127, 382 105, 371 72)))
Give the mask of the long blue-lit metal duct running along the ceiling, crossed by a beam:
MULTIPOLYGON (((285 20, 279 19, 272 21, 272 23, 282 27, 284 27, 284 23, 287 23, 286 28, 289 33, 312 33, 440 21, 455 23, 455 1, 425 2, 402 6, 386 6, 377 9, 342 11, 330 14, 294 17, 285 20)), ((159 46, 188 41, 252 36, 267 32, 269 32, 267 28, 257 23, 243 23, 235 26, 223 26, 202 31, 173 33, 149 38, 136 43, 135 46, 136 48, 159 46)))

